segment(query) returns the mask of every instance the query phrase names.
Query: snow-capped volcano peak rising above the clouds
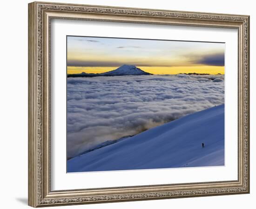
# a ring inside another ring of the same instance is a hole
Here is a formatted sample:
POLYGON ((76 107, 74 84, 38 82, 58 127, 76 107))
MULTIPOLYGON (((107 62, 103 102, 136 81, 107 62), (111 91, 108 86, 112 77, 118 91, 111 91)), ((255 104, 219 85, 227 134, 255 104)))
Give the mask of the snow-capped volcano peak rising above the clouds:
POLYGON ((150 73, 142 71, 140 68, 136 67, 135 65, 122 65, 121 67, 113 71, 101 73, 101 75, 109 75, 109 76, 150 75, 150 73))

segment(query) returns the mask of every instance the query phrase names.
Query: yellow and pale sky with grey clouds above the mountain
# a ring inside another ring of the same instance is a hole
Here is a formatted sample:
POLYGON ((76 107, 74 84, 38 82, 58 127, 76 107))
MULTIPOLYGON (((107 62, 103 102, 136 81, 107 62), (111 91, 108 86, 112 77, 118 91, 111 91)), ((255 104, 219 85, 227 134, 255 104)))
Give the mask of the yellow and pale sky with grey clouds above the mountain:
POLYGON ((67 36, 67 74, 135 65, 152 74, 224 74, 224 43, 67 36))

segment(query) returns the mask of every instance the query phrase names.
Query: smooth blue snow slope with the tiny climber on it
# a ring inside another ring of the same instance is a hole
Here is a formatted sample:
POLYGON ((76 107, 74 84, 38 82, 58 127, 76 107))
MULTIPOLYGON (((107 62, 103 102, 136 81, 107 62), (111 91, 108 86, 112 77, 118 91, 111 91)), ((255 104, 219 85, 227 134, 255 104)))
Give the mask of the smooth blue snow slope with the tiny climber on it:
POLYGON ((224 104, 74 157, 67 172, 219 165, 224 165, 224 104))

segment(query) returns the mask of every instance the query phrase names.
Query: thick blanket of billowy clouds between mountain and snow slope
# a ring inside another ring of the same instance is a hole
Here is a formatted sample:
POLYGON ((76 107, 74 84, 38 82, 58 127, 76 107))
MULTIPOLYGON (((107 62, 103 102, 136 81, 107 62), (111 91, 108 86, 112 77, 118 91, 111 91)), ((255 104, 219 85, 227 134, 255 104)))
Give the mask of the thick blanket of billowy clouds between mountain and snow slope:
POLYGON ((67 157, 224 104, 224 75, 67 78, 67 157))

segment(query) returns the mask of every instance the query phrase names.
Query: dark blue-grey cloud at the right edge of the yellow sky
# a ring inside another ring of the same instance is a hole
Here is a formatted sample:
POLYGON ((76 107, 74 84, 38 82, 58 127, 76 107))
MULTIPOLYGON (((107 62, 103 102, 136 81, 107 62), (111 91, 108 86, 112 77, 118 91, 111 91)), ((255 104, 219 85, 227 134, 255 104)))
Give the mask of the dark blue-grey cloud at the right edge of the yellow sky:
POLYGON ((224 66, 224 53, 202 56, 202 58, 198 59, 196 63, 202 65, 224 66))

